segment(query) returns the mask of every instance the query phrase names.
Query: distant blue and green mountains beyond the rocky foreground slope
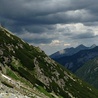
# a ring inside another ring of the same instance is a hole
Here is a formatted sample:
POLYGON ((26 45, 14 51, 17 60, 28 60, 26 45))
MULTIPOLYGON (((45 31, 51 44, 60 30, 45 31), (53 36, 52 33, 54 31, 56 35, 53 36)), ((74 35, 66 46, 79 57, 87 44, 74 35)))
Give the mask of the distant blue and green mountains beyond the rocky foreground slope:
MULTIPOLYGON (((78 52, 73 55, 64 56, 65 53, 62 57, 58 56, 53 59, 98 89, 98 46, 95 44, 91 47, 79 45, 76 48, 78 48, 78 52)), ((73 50, 76 48, 73 48, 73 50)), ((70 51, 70 49, 72 48, 69 48, 69 50, 67 48, 67 51, 70 51)))

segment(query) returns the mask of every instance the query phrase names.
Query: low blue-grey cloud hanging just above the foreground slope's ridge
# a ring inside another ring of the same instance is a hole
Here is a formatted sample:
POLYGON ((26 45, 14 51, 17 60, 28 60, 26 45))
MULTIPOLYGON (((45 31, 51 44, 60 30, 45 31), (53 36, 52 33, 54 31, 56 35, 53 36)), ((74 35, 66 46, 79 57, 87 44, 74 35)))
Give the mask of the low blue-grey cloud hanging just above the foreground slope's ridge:
MULTIPOLYGON (((16 34, 18 35, 18 34, 16 34)), ((28 43, 32 44, 49 44, 52 42, 54 37, 47 36, 47 34, 36 34, 36 33, 29 33, 25 32, 18 35, 20 38, 24 39, 28 43)))

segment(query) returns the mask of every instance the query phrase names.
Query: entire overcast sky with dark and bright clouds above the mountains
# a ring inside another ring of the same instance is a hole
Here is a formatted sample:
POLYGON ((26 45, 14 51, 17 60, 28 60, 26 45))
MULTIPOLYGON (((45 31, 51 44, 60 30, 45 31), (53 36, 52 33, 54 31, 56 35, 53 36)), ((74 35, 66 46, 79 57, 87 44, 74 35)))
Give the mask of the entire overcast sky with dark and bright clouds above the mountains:
POLYGON ((0 0, 0 23, 48 55, 98 45, 98 0, 0 0))

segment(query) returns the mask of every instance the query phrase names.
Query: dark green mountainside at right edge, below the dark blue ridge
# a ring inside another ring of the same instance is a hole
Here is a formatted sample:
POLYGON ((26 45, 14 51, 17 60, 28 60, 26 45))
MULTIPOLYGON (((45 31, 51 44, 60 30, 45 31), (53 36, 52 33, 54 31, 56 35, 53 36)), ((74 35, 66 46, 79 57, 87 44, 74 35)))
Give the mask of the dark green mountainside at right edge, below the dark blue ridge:
POLYGON ((75 74, 98 88, 98 58, 94 58, 85 63, 75 74))

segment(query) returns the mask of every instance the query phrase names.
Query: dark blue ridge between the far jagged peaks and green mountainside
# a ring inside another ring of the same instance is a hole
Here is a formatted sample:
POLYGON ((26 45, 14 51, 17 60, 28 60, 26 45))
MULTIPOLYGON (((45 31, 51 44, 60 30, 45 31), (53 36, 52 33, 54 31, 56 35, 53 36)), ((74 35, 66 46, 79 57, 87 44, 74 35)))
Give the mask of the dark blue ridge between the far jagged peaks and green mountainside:
POLYGON ((72 72, 77 71, 87 61, 98 56, 98 46, 92 49, 81 50, 72 56, 54 59, 72 72))

